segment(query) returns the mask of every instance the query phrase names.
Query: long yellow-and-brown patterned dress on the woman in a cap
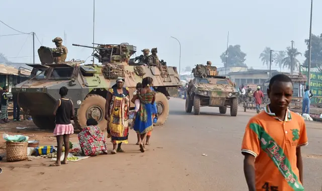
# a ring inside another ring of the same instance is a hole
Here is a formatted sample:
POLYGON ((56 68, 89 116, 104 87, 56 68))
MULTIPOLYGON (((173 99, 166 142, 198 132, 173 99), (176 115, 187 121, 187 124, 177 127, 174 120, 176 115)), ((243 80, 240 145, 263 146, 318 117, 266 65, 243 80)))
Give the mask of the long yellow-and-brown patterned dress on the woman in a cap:
POLYGON ((117 88, 108 90, 112 94, 112 100, 109 107, 109 121, 107 133, 111 136, 112 143, 128 143, 128 120, 130 114, 129 90, 123 87, 123 93, 119 94, 117 88))

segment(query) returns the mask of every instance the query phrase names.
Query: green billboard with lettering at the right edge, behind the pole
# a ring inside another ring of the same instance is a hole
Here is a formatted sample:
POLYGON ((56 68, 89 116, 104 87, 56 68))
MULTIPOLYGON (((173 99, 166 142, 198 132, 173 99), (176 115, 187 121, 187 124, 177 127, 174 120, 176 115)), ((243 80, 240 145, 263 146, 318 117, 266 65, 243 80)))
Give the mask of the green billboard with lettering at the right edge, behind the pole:
MULTIPOLYGON (((308 68, 306 66, 301 65, 300 72, 308 78, 308 68)), ((313 93, 311 105, 322 104, 322 70, 319 67, 311 67, 310 80, 308 85, 313 93)))

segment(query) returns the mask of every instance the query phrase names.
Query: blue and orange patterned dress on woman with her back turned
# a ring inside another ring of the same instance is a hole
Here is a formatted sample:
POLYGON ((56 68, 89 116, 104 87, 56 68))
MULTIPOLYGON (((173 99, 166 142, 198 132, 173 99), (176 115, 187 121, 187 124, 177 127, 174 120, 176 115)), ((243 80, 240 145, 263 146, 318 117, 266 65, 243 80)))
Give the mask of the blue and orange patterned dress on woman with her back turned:
POLYGON ((140 100, 140 109, 136 114, 134 122, 134 131, 138 134, 144 134, 153 129, 152 120, 152 99, 155 91, 150 93, 141 93, 138 98, 140 100))

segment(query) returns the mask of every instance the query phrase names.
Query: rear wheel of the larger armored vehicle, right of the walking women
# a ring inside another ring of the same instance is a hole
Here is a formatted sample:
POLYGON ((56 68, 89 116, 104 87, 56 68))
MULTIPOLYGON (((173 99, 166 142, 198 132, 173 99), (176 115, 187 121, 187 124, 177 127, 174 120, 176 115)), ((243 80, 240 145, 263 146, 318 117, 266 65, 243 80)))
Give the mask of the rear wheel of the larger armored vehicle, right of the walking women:
POLYGON ((157 121, 154 126, 161 126, 166 123, 169 116, 169 102, 162 92, 155 93, 155 104, 157 110, 157 121))

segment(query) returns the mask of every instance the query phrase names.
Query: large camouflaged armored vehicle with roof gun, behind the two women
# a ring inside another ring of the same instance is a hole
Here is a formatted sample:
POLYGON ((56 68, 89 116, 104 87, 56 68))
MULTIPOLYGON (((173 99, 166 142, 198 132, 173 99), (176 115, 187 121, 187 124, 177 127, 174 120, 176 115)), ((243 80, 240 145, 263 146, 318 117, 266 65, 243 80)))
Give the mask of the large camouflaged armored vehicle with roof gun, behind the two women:
MULTIPOLYGON (((73 45, 93 49, 90 46, 73 45)), ((135 52, 136 47, 128 43, 97 44, 92 56, 101 64, 84 65, 81 64, 84 61, 54 63, 52 50, 40 47, 38 55, 41 64, 28 64, 33 67, 29 80, 16 85, 12 92, 14 96, 18 96, 20 107, 32 116, 37 127, 53 129, 53 108, 55 101, 60 99, 58 90, 61 86, 66 86, 69 89, 67 97, 74 103, 75 127, 84 128, 87 119, 94 118, 101 129, 106 129, 105 98, 117 77, 125 78, 124 85, 129 87, 132 97, 136 83, 150 76, 153 78, 154 90, 157 91, 155 102, 158 120, 155 125, 163 125, 169 115, 169 92, 175 92, 180 85, 177 68, 134 62, 129 64, 129 58, 135 52)), ((131 108, 134 108, 132 103, 131 108)))

